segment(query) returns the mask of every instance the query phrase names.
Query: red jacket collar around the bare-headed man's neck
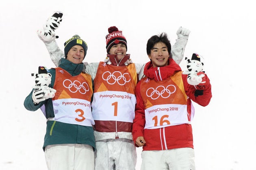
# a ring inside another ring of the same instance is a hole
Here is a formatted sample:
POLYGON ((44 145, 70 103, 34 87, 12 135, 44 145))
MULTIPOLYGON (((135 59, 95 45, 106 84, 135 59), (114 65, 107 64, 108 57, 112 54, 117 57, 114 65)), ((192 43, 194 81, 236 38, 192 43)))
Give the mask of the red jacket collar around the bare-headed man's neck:
POLYGON ((181 71, 180 66, 171 58, 168 60, 168 65, 164 67, 153 68, 152 62, 145 64, 144 74, 155 81, 162 81, 174 75, 177 71, 181 71))

